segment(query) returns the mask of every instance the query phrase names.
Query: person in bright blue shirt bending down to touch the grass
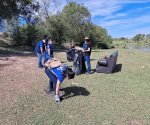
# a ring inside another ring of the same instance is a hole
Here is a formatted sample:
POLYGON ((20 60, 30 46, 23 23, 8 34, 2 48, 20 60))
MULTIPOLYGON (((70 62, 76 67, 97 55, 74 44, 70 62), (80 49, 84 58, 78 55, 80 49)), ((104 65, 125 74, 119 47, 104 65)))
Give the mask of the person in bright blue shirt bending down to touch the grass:
POLYGON ((75 73, 66 64, 62 64, 59 60, 53 58, 45 63, 45 73, 49 77, 49 90, 47 93, 54 91, 55 102, 60 102, 59 91, 61 83, 65 78, 73 79, 75 73))

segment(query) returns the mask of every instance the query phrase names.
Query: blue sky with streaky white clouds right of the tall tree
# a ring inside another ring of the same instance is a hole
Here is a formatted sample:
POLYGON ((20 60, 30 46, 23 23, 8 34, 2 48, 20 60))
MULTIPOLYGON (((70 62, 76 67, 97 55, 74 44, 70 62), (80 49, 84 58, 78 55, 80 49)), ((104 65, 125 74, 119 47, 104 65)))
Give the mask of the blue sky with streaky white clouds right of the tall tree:
MULTIPOLYGON (((112 37, 132 38, 150 34, 150 0, 67 0, 83 4, 92 22, 107 29, 112 37)), ((61 6, 66 0, 60 0, 61 6)))

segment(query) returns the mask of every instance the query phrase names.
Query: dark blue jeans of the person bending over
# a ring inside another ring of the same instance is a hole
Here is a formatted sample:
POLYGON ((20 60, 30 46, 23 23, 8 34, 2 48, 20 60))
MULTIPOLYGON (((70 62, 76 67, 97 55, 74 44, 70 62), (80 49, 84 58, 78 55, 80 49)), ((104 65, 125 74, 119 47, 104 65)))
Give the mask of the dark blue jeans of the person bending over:
POLYGON ((56 94, 56 84, 57 84, 57 77, 55 74, 48 68, 45 68, 45 73, 49 77, 49 92, 54 90, 54 93, 56 94))

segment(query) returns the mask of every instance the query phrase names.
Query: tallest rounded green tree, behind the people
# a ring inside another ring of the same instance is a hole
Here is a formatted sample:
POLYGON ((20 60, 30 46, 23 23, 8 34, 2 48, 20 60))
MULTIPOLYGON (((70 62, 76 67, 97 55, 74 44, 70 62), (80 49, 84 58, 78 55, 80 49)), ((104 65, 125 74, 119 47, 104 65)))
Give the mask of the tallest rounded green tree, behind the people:
POLYGON ((67 41, 80 43, 84 35, 89 34, 88 24, 91 22, 91 15, 88 9, 80 4, 70 2, 66 5, 62 10, 62 21, 67 41))

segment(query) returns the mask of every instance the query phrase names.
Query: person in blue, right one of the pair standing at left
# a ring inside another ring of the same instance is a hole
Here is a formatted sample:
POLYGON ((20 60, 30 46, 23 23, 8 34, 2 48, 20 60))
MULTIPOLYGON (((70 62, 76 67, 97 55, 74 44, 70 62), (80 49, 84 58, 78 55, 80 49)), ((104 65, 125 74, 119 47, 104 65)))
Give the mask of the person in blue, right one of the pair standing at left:
POLYGON ((54 58, 54 45, 52 44, 52 40, 49 39, 45 44, 45 53, 44 53, 44 63, 50 58, 54 58))

